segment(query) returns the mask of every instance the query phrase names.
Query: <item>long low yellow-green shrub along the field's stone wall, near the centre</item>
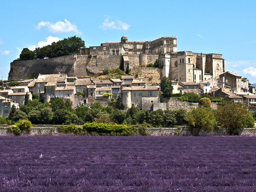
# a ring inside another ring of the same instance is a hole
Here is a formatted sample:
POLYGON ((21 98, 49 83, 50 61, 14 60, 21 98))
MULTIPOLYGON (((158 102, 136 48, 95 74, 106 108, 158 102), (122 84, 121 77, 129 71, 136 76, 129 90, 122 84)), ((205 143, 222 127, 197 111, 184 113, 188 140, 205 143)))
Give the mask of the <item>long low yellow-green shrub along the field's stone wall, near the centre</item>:
POLYGON ((104 133, 104 134, 111 134, 111 132, 114 133, 122 133, 122 132, 129 132, 132 131, 134 128, 130 128, 126 125, 110 125, 108 123, 85 123, 83 125, 83 128, 88 132, 98 132, 98 133, 104 133))

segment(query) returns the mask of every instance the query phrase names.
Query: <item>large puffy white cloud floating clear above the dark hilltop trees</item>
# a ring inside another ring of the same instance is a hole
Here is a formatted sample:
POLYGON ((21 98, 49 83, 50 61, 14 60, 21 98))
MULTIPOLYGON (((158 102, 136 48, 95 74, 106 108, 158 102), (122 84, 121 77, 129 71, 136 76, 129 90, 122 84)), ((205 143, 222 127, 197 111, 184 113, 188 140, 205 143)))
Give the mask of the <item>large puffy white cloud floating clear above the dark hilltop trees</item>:
POLYGON ((81 34, 81 32, 78 31, 77 26, 74 24, 71 24, 67 19, 65 19, 65 22, 58 21, 56 23, 50 23, 49 21, 41 21, 38 23, 38 26, 36 28, 40 30, 42 26, 46 26, 49 30, 49 32, 53 33, 63 33, 63 32, 75 32, 76 34, 81 34))

